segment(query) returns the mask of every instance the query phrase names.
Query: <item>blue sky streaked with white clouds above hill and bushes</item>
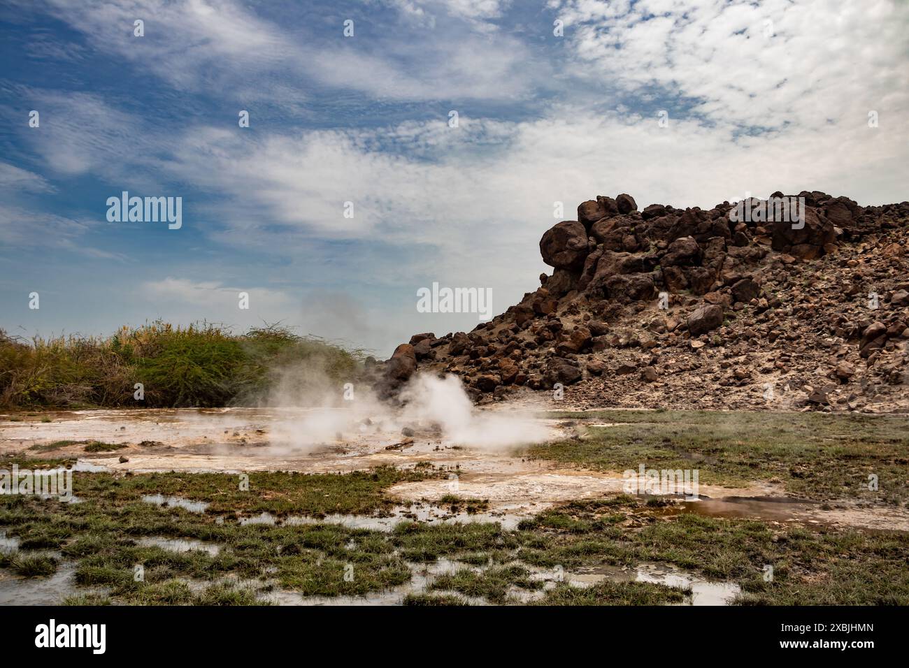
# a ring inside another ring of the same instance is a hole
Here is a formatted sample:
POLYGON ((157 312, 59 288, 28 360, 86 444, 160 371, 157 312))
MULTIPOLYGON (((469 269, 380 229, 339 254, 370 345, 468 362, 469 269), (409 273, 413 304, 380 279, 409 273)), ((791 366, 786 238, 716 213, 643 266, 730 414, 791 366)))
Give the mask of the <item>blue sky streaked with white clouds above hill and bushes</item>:
POLYGON ((0 0, 0 329, 385 357, 480 322, 421 288, 519 302, 597 194, 909 199, 907 65, 904 0, 0 0))

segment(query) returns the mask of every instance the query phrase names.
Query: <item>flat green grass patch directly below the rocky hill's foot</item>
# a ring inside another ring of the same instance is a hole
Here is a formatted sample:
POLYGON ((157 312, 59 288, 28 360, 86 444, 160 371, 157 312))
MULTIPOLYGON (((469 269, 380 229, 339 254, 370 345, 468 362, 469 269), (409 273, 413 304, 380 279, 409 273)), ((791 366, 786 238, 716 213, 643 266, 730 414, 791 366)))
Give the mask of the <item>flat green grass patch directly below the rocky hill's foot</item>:
POLYGON ((708 411, 590 411, 555 418, 614 423, 531 456, 604 471, 697 469, 701 484, 782 484, 812 499, 909 502, 909 416, 708 411), (876 475, 877 490, 869 489, 876 475))

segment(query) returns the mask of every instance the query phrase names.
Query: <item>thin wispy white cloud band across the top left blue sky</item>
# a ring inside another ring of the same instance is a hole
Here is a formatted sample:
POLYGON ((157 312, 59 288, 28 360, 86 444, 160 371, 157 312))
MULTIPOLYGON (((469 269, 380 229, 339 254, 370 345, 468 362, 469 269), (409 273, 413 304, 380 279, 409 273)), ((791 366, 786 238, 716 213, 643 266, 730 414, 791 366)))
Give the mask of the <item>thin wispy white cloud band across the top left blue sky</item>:
MULTIPOLYGON (((499 3, 461 0, 449 12, 473 20, 497 15, 499 3)), ((285 104, 301 102, 305 82, 402 100, 510 99, 528 95, 534 80, 522 43, 487 30, 411 31, 406 39, 345 39, 343 25, 282 11, 303 35, 258 17, 235 0, 43 0, 48 13, 82 32, 89 45, 139 65, 181 91, 216 92, 285 104), (145 36, 133 22, 145 21, 145 36), (315 35, 311 35, 317 30, 315 35), (308 37, 315 37, 311 39, 308 37), (483 65, 483 66, 474 66, 483 65), (255 81, 255 86, 248 82, 255 81), (293 85, 286 85, 287 82, 293 85)), ((416 5, 409 15, 415 15, 416 5)), ((397 38, 395 38, 397 37, 397 38)))

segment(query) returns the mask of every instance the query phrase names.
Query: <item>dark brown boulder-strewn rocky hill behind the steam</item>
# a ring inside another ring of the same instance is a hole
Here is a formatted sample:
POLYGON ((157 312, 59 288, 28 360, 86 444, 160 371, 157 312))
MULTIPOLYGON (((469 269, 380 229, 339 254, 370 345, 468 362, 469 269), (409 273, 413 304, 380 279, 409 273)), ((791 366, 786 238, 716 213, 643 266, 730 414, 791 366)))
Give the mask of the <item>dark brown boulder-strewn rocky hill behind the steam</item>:
POLYGON ((461 376, 480 403, 909 410, 907 242, 907 202, 597 196, 543 235, 540 287, 469 334, 415 334, 379 386, 420 370, 461 376))

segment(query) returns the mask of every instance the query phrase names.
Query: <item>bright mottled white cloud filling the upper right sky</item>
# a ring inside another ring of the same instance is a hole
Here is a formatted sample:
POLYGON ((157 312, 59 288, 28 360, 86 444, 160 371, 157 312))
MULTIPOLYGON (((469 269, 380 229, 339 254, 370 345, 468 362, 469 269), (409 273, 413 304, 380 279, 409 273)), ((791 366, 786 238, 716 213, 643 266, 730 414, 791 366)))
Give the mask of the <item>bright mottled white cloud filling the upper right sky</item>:
POLYGON ((695 98, 724 125, 854 135, 869 110, 895 123, 909 106, 909 6, 893 0, 568 0, 557 11, 573 25, 575 75, 695 98))

